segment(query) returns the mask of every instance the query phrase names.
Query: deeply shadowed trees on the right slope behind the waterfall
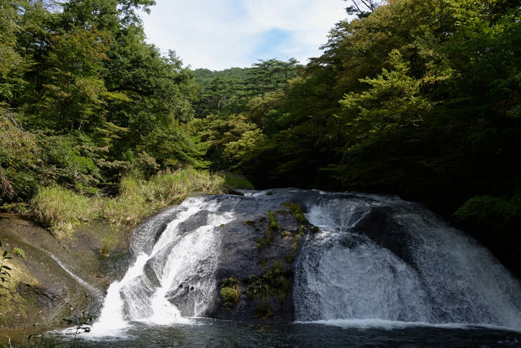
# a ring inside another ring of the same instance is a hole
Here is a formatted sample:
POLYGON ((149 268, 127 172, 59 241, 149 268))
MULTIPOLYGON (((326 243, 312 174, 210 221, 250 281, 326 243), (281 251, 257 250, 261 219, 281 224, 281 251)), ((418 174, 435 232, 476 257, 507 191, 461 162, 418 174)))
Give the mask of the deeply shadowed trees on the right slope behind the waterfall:
POLYGON ((519 270, 521 7, 389 0, 365 9, 351 6, 358 18, 338 23, 324 54, 288 80, 280 61, 259 62, 242 84, 210 80, 242 90, 193 122, 207 158, 257 188, 424 202, 519 270))

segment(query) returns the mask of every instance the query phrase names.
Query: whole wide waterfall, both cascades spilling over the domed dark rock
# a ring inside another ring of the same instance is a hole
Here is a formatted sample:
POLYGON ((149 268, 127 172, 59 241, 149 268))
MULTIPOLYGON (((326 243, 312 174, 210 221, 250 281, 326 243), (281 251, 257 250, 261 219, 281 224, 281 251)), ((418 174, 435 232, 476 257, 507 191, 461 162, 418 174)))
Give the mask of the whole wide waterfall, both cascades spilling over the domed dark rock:
POLYGON ((131 321, 167 324, 212 316, 219 310, 209 308, 218 299, 220 279, 236 275, 247 284, 249 275, 263 271, 259 259, 265 256, 255 246, 255 233, 263 232, 246 222, 260 221, 268 210, 280 212, 288 201, 302 205, 320 230, 302 237, 295 262, 286 262, 295 272, 297 321, 521 330, 519 281, 485 248, 423 206, 392 196, 278 189, 189 198, 143 223, 133 234, 135 263, 110 285, 93 331, 131 321))

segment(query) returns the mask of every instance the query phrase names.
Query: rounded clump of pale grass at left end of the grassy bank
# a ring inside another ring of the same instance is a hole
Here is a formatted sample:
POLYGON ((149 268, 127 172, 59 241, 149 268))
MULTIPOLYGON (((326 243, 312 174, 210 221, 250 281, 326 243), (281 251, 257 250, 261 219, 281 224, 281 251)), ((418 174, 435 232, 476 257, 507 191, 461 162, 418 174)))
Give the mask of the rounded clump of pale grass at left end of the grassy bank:
POLYGON ((89 221, 95 213, 89 198, 57 185, 40 188, 31 201, 31 209, 58 239, 70 237, 74 226, 89 221))

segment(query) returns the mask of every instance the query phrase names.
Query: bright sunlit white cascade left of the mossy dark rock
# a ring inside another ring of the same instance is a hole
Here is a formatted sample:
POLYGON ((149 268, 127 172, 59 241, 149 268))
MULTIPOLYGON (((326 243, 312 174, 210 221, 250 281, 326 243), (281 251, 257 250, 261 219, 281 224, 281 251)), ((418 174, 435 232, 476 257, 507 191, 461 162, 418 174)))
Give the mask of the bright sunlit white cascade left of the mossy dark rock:
MULTIPOLYGON (((188 322, 167 299, 169 291, 187 282, 190 291, 197 295, 192 314, 197 316, 204 313, 209 296, 216 288, 212 277, 219 248, 215 227, 233 219, 231 214, 215 213, 217 208, 215 203, 205 203, 203 198, 190 198, 177 208, 177 215, 154 244, 150 254, 141 253, 125 277, 108 288, 100 318, 93 325, 94 334, 124 329, 131 321, 160 325, 188 322), (202 213, 206 215, 201 217, 202 213), (191 219, 200 222, 202 226, 191 229, 191 219), (183 223, 188 223, 189 227, 183 227, 183 223), (149 277, 145 275, 147 266, 149 277), (158 284, 151 282, 151 272, 157 277, 158 284), (194 279, 194 275, 198 276, 197 279, 194 279)), ((142 243, 153 238, 153 235, 148 235, 148 238, 140 235, 142 243)), ((134 245, 133 248, 145 249, 140 245, 134 245)))

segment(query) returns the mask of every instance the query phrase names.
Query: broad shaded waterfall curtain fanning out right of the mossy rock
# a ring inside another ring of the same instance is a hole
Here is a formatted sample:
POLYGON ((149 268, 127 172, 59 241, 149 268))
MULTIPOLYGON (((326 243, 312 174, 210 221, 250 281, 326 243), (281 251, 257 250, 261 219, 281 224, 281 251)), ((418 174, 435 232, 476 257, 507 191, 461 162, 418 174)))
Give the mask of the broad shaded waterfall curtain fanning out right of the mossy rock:
POLYGON ((297 261, 299 321, 464 323, 521 329, 521 285, 475 240, 392 197, 327 199, 297 261))

